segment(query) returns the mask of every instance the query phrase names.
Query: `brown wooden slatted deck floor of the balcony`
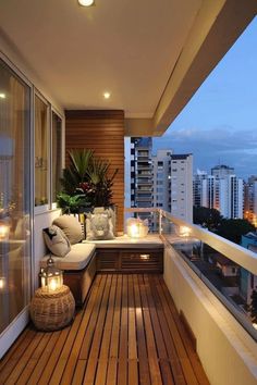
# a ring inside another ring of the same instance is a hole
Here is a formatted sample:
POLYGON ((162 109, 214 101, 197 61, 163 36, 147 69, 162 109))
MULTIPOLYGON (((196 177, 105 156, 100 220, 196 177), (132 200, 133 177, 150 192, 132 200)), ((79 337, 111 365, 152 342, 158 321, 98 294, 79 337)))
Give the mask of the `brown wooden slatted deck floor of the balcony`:
POLYGON ((0 384, 208 384, 159 275, 97 275, 73 324, 28 327, 0 361, 0 384))

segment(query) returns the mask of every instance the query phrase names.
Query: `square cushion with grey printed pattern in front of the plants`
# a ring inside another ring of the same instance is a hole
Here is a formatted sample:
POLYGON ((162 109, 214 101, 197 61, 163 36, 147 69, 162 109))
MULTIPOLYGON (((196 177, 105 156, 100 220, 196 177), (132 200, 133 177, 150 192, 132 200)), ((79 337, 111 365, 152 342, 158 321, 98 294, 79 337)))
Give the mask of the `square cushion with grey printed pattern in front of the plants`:
POLYGON ((108 210, 88 214, 86 219, 86 239, 113 239, 113 225, 108 210))

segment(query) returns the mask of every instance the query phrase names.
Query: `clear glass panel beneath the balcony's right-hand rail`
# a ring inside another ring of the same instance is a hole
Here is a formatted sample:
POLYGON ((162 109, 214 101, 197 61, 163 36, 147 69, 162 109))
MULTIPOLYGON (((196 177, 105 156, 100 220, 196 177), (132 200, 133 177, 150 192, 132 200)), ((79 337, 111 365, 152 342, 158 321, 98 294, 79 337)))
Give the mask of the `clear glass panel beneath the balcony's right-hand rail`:
POLYGON ((195 238, 189 224, 174 225, 167 218, 161 223, 166 239, 257 340, 257 276, 195 238))

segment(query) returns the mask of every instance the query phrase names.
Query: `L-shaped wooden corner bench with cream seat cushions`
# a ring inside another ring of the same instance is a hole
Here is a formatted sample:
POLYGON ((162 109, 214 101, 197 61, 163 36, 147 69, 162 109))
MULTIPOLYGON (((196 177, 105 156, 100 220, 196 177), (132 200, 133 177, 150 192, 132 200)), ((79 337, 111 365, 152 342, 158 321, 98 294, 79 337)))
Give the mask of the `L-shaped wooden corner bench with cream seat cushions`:
MULTIPOLYGON (((46 268, 49 256, 40 266, 46 268)), ((96 272, 106 273, 162 273, 163 244, 158 236, 133 239, 127 236, 112 240, 84 240, 73 245, 65 257, 52 256, 56 266, 63 270, 77 306, 82 306, 96 272)))

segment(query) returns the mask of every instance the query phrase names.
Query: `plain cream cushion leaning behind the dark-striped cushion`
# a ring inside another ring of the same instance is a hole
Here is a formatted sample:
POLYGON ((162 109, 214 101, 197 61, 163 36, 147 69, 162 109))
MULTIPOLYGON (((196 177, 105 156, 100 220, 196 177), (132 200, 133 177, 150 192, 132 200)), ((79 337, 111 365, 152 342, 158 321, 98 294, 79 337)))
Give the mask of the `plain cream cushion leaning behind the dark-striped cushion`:
POLYGON ((58 216, 52 223, 63 231, 72 245, 75 245, 82 240, 82 226, 75 216, 61 215, 58 216))

